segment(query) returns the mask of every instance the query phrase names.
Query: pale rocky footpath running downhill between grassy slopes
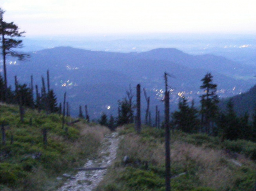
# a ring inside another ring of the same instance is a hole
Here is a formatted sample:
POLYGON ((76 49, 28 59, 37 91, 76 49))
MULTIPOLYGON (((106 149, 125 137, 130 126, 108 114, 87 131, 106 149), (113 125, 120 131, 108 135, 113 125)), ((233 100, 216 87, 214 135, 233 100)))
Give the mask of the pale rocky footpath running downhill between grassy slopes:
POLYGON ((83 170, 78 171, 75 176, 70 176, 58 191, 91 191, 94 189, 106 174, 107 167, 116 158, 120 139, 117 135, 118 133, 114 132, 104 137, 98 157, 87 161, 83 170), (103 169, 90 170, 99 167, 103 169))

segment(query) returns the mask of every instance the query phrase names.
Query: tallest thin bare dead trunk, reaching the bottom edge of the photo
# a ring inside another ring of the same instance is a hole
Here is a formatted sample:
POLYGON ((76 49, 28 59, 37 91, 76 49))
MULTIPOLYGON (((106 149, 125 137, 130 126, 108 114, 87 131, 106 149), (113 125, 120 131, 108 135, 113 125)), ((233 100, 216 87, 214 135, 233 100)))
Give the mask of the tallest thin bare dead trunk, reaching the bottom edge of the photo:
POLYGON ((170 127, 169 127, 169 91, 167 73, 164 73, 165 81, 165 98, 164 98, 164 111, 165 111, 165 181, 166 191, 171 191, 171 151, 170 151, 170 127))

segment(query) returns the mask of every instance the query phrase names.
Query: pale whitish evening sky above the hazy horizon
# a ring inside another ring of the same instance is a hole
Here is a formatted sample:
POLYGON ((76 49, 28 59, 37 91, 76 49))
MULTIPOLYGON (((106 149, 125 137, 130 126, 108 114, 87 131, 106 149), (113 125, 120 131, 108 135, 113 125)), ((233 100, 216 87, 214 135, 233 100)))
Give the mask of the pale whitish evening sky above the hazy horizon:
POLYGON ((254 0, 0 0, 26 37, 143 33, 256 34, 254 0))

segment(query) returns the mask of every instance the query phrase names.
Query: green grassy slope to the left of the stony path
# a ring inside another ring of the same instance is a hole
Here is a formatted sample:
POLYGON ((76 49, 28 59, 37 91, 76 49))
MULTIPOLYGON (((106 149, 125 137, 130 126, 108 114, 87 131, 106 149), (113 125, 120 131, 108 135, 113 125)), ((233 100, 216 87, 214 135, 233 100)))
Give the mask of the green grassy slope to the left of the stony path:
POLYGON ((2 123, 6 124, 7 141, 5 145, 2 139, 0 142, 1 191, 55 190, 64 181, 56 177, 65 172, 72 174, 73 168, 95 156, 104 134, 109 132, 101 126, 89 126, 85 121, 62 129, 62 116, 31 109, 26 109, 21 122, 17 106, 1 104, 2 123), (47 145, 43 144, 44 128, 47 128, 47 145))

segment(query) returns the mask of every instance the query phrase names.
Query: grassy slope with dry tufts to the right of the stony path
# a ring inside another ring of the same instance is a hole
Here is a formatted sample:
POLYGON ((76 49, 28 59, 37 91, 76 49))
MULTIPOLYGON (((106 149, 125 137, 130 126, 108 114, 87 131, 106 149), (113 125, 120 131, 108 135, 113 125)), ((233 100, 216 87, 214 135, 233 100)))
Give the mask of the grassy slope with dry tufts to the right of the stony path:
MULTIPOLYGON (((133 125, 119 134, 115 163, 95 191, 164 191, 164 130, 133 125), (124 156, 130 163, 124 167, 124 156)), ((171 135, 172 191, 253 191, 256 178, 256 143, 225 141, 202 134, 171 135), (242 165, 242 166, 239 166, 242 165)))

